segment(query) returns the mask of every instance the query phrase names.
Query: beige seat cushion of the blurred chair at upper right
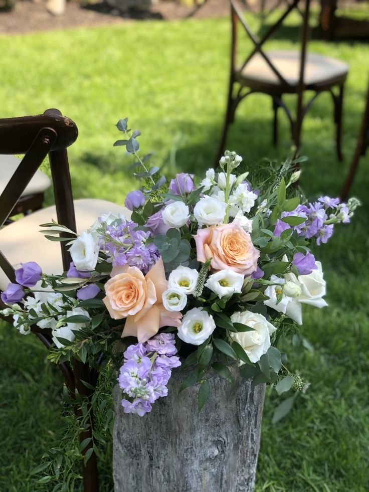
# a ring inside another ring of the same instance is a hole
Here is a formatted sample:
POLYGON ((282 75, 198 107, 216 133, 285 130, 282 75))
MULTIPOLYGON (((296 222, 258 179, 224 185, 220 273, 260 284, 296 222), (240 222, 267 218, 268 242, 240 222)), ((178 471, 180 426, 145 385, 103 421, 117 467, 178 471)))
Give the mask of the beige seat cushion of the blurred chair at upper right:
MULTIPOLYGON (((266 54, 282 77, 292 86, 297 86, 300 71, 300 53, 298 51, 280 50, 268 51, 266 54)), ((323 84, 326 81, 344 77, 347 71, 348 66, 340 60, 308 53, 304 82, 305 85, 323 84)), ((242 70, 241 76, 251 82, 280 85, 279 78, 259 53, 251 58, 242 70)))

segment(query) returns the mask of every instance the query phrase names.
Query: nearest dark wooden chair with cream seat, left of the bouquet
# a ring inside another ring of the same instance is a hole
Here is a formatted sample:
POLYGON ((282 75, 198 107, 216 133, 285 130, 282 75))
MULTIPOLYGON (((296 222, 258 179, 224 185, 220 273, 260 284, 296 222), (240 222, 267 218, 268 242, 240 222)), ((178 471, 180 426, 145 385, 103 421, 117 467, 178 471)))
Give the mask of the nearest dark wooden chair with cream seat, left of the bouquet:
MULTIPOLYGON (((62 273, 71 262, 65 242, 54 243, 46 240, 40 224, 57 220, 72 231, 86 230, 97 217, 108 213, 124 213, 126 209, 103 200, 73 201, 67 147, 77 138, 75 123, 63 116, 57 109, 49 109, 38 116, 0 119, 0 153, 25 154, 19 167, 0 195, 0 227, 12 214, 24 190, 32 180, 44 158, 49 154, 51 175, 54 186, 55 207, 34 212, 0 230, 0 292, 9 281, 15 282, 14 267, 20 262, 36 261, 46 273, 62 273)), ((5 305, 0 300, 0 308, 5 305)), ((12 322, 12 319, 8 319, 12 322)), ((50 330, 33 326, 32 331, 50 348, 50 330)), ((91 391, 82 383, 95 386, 97 371, 89 365, 74 360, 73 364, 59 365, 67 387, 73 396, 77 390, 81 395, 91 396, 91 391)), ((77 406, 76 406, 77 408, 77 406)), ((77 409, 77 415, 78 415, 77 409)), ((81 433, 81 442, 91 437, 92 420, 89 429, 81 433)), ((83 454, 91 447, 91 442, 83 454)), ((96 456, 92 453, 83 465, 83 480, 86 492, 98 491, 96 456)))

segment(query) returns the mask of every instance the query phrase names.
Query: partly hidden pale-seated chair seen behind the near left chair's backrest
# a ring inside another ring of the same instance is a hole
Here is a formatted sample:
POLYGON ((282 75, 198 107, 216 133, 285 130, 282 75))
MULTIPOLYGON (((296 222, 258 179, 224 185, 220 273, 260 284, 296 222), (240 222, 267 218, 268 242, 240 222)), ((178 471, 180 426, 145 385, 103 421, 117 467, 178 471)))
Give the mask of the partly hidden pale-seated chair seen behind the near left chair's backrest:
MULTIPOLYGON (((14 155, 0 155, 0 195, 14 175, 20 162, 21 159, 14 155)), ((34 177, 18 200, 14 210, 12 210, 10 217, 17 214, 27 214, 28 212, 34 212, 41 209, 44 202, 44 192, 50 185, 51 181, 49 177, 42 171, 36 171, 34 177)))

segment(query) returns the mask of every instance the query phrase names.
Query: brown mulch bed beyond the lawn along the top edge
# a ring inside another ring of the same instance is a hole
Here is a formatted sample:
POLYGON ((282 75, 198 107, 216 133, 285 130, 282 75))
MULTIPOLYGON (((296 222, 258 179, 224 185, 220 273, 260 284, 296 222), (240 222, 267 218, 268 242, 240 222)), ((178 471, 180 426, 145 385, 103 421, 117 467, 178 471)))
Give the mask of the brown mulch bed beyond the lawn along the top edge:
POLYGON ((207 18, 229 14, 228 0, 208 0, 199 9, 194 9, 174 1, 160 1, 151 7, 150 12, 130 12, 121 14, 105 2, 82 7, 77 2, 68 2, 61 16, 53 16, 44 2, 19 1, 12 12, 0 12, 0 34, 28 33, 51 29, 74 27, 94 27, 108 24, 121 24, 132 19, 175 20, 186 17, 207 18))

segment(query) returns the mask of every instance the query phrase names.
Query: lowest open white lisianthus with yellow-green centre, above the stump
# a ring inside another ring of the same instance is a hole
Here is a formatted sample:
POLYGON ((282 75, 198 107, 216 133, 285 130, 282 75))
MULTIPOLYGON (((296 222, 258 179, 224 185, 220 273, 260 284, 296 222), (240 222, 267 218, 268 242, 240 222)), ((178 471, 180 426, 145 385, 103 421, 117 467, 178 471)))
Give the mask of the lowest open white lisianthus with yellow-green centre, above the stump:
POLYGON ((181 321, 178 338, 191 345, 201 345, 216 329, 213 316, 198 307, 187 311, 181 321))

